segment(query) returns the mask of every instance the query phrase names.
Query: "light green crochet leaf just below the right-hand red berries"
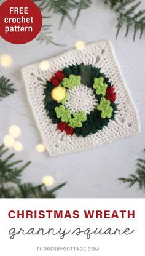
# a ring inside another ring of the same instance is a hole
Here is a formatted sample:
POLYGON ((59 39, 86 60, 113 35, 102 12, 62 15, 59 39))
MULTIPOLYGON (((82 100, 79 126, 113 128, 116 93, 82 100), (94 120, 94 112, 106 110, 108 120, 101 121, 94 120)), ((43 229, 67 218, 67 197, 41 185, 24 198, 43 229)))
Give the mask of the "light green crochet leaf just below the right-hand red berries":
POLYGON ((106 98, 101 98, 100 104, 97 106, 98 110, 101 111, 101 118, 111 118, 113 108, 110 103, 106 98))

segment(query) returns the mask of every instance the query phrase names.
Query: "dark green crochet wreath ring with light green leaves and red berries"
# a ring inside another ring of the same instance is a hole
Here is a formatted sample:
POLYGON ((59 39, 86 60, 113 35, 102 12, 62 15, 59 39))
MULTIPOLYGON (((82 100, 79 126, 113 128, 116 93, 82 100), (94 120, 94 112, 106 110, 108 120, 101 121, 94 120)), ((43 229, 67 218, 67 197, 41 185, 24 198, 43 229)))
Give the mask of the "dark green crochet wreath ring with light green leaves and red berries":
POLYGON ((53 124, 57 124, 58 129, 65 131, 68 135, 76 134, 86 137, 89 134, 95 134, 114 119, 117 110, 114 87, 109 82, 109 78, 100 72, 100 68, 92 65, 72 65, 57 71, 50 81, 46 82, 44 95, 47 116, 53 124), (65 106, 68 100, 67 90, 73 90, 81 84, 92 89, 96 106, 90 113, 78 111, 73 114, 65 106), (61 102, 52 98, 52 90, 57 86, 66 89, 66 97, 61 102))

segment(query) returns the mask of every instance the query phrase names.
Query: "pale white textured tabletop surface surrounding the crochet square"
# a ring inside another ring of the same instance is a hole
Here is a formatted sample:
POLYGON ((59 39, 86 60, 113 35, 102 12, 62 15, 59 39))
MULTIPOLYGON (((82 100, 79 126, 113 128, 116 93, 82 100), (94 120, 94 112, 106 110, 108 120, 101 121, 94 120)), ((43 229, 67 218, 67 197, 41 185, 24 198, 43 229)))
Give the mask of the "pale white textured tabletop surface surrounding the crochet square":
MULTIPOLYGON (((145 3, 142 7, 145 7, 145 3)), ((75 14, 71 13, 72 16, 75 14)), ((145 148, 145 33, 141 41, 137 36, 133 42, 133 31, 125 38, 123 28, 116 41, 116 14, 95 0, 90 9, 80 14, 76 29, 65 20, 61 30, 58 30, 59 22, 60 16, 56 14, 49 19, 50 25, 53 25, 51 30, 55 42, 66 44, 65 47, 46 45, 45 42, 39 44, 36 40, 25 45, 13 45, 0 39, 0 54, 8 53, 14 59, 11 68, 1 67, 1 75, 10 78, 17 89, 14 95, 0 103, 1 143, 9 126, 17 124, 22 130, 19 140, 23 143, 24 150, 17 153, 15 159, 32 161, 31 166, 23 172, 22 181, 41 183, 45 175, 55 178, 54 185, 67 181, 67 185, 58 191, 57 198, 144 198, 144 193, 139 191, 138 186, 128 188, 117 178, 128 177, 135 171, 136 158, 143 156, 145 148), (133 137, 93 150, 50 158, 46 151, 37 153, 35 149, 41 143, 41 136, 28 105, 20 69, 74 48, 77 40, 84 40, 86 43, 100 40, 112 42, 123 76, 138 108, 142 131, 133 137)))

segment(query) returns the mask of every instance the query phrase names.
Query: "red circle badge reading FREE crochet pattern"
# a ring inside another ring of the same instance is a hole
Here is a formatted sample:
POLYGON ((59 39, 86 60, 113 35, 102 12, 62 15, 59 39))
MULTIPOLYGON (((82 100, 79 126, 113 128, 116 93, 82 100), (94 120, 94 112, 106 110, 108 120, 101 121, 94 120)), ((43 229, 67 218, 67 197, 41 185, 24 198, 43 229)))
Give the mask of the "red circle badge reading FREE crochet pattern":
POLYGON ((31 0, 7 0, 0 6, 0 36, 12 44, 26 44, 41 31, 42 14, 31 0))

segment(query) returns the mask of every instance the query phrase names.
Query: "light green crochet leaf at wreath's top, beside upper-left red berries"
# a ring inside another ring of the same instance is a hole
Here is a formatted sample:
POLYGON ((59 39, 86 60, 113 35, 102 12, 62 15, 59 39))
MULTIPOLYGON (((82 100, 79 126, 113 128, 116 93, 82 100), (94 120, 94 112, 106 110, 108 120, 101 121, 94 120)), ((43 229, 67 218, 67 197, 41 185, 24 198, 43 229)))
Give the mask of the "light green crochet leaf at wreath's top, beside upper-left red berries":
POLYGON ((68 89, 73 89, 74 86, 80 86, 81 84, 81 76, 74 76, 74 74, 71 74, 69 78, 63 78, 63 81, 61 84, 63 87, 68 89))

